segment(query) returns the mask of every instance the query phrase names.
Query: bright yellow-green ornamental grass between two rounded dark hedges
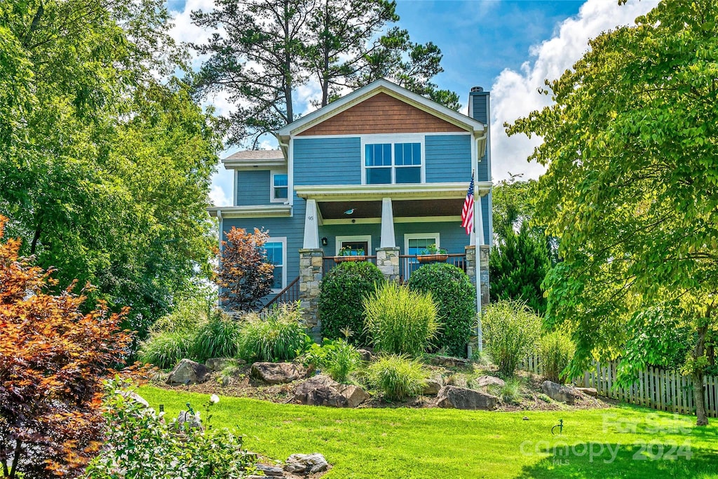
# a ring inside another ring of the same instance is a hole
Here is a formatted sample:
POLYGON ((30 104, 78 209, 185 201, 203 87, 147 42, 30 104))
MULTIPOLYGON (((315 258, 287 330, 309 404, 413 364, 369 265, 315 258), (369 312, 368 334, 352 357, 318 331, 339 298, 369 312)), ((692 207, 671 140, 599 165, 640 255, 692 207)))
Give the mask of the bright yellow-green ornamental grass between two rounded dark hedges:
POLYGON ((434 338, 439 324, 431 293, 386 282, 364 300, 365 330, 375 350, 418 355, 434 338))

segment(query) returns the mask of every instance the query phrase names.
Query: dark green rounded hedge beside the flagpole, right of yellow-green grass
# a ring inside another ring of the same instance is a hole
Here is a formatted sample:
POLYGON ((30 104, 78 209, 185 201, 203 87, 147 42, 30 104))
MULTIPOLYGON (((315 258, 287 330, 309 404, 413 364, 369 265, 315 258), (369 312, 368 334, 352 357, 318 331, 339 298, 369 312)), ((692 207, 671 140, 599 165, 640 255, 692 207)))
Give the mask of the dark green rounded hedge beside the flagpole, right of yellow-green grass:
POLYGON ((453 264, 425 264, 411 273, 409 289, 430 292, 437 302, 444 323, 434 340, 437 348, 464 358, 476 317, 476 289, 469 276, 453 264))

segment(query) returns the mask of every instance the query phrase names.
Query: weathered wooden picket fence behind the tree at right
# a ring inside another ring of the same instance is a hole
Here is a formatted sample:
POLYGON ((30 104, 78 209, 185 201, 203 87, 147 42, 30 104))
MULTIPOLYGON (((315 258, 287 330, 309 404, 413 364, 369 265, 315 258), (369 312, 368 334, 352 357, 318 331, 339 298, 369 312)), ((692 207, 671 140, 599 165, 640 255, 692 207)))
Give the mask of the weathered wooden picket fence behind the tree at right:
MULTIPOLYGON (((541 374, 541 363, 536 355, 523 361, 522 368, 541 374)), ((638 404, 661 411, 679 414, 695 414, 693 384, 691 378, 678 371, 649 367, 628 387, 615 387, 616 363, 598 363, 583 376, 574 378, 576 386, 595 388, 600 396, 638 404)), ((704 401, 709 417, 718 417, 718 376, 705 376, 704 401)))

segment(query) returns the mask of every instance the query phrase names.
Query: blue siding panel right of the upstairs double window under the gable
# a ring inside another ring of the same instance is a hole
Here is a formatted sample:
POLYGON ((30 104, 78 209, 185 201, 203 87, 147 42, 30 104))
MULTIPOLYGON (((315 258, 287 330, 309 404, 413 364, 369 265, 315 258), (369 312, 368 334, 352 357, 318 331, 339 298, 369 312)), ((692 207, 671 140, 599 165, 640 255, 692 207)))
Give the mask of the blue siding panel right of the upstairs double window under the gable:
POLYGON ((429 135, 424 144, 427 183, 470 180, 470 135, 429 135))

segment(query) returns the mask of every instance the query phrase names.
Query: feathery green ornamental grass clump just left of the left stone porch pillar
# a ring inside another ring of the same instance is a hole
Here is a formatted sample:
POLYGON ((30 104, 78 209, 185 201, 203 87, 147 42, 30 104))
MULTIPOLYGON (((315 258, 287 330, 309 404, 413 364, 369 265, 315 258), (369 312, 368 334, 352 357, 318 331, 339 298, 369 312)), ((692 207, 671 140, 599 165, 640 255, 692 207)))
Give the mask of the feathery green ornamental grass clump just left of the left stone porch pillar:
POLYGON ((312 340, 304 332, 299 304, 280 304, 264 319, 248 314, 242 320, 239 357, 246 361, 291 361, 312 340))

